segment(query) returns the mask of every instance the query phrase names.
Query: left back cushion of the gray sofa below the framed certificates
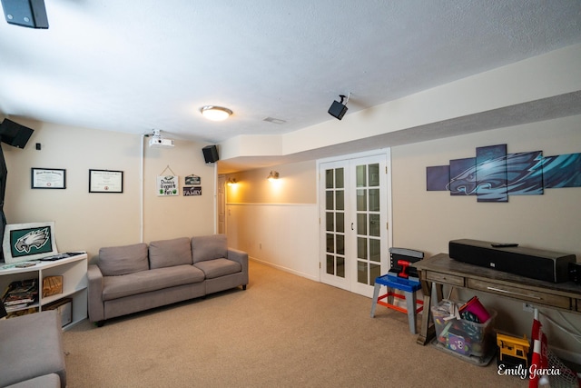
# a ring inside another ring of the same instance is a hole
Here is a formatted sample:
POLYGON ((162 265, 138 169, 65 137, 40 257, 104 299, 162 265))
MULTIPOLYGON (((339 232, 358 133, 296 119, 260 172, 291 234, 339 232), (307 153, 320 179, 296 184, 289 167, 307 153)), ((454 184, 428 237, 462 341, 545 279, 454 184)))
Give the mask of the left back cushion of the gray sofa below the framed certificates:
POLYGON ((149 269, 147 244, 110 246, 99 250, 99 268, 105 276, 133 274, 149 269))

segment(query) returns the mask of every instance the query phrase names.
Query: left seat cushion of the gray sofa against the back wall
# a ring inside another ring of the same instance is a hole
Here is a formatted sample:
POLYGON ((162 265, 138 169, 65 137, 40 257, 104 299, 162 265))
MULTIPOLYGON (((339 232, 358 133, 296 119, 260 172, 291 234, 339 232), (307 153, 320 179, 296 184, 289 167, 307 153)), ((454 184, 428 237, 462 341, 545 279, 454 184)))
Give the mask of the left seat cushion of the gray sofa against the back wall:
POLYGON ((122 276, 103 278, 103 301, 123 298, 136 293, 148 293, 176 285, 200 283, 202 270, 193 265, 174 265, 122 276))

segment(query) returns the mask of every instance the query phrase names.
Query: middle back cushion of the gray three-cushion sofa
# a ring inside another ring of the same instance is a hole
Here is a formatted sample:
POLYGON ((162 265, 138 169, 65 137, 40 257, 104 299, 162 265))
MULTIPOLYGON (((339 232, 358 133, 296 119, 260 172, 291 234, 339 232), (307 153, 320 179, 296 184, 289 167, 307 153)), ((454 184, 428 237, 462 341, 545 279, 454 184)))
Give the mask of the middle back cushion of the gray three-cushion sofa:
POLYGON ((188 237, 153 241, 149 244, 149 265, 152 269, 192 264, 192 247, 188 237))

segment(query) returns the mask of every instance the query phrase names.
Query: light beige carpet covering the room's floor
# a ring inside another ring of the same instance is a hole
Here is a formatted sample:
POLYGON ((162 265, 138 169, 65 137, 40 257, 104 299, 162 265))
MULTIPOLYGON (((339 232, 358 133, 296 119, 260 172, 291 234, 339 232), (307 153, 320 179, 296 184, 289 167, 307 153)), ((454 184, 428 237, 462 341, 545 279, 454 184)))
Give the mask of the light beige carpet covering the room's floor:
POLYGON ((407 316, 251 262, 246 291, 64 333, 76 387, 526 387, 420 346, 407 316))

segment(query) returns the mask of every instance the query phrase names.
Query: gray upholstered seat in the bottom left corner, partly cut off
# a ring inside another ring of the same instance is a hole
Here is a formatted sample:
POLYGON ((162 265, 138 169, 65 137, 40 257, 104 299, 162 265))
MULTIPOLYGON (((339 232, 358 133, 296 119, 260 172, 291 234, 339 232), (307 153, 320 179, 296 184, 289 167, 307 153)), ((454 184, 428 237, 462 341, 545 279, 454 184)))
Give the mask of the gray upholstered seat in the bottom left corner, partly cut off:
POLYGON ((56 310, 0 320, 0 387, 66 386, 63 329, 56 310))

